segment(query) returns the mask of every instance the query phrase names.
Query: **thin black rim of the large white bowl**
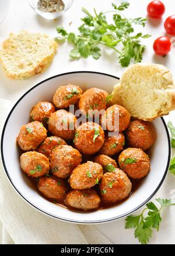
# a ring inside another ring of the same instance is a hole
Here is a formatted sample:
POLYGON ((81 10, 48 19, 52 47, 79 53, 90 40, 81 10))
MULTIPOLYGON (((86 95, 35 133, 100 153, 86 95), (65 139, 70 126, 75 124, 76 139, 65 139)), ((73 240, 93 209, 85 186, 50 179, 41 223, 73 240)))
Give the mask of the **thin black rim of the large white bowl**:
POLYGON ((42 209, 40 209, 39 207, 37 207, 35 204, 33 204, 32 202, 30 202, 28 199, 26 199, 26 197, 17 189, 17 187, 13 184, 13 180, 10 178, 10 175, 8 173, 8 169, 6 168, 6 165, 5 165, 5 160, 4 160, 4 157, 3 157, 3 136, 5 134, 5 128, 6 128, 6 125, 8 124, 8 120, 10 118, 10 115, 12 114, 13 110, 15 109, 16 105, 19 104, 19 102, 22 100, 22 98, 24 98, 28 93, 30 93, 31 90, 33 90, 34 88, 36 88, 37 86, 40 86, 40 84, 48 81, 48 80, 51 80, 55 77, 60 77, 60 76, 65 76, 65 75, 68 75, 68 74, 77 74, 77 73, 91 73, 91 74, 101 74, 103 76, 108 76, 108 77, 113 77, 113 78, 116 78, 116 79, 119 79, 118 77, 115 77, 115 76, 112 76, 110 74, 106 74, 106 73, 101 73, 101 72, 95 72, 95 71, 73 71, 73 72, 68 72, 68 73, 62 73, 62 74, 58 74, 56 76, 53 76, 53 77, 50 77, 50 78, 47 78, 43 81, 41 81, 40 83, 36 84, 35 86, 31 87, 28 91, 26 91, 26 93, 24 93, 22 95, 22 97, 19 98, 19 100, 17 100, 17 102, 15 103, 15 105, 13 105, 12 109, 10 110, 9 114, 8 114, 8 117, 6 118, 6 121, 5 121, 5 124, 3 126, 3 130, 2 130, 2 136, 1 136, 1 158, 2 158, 2 163, 3 163, 3 168, 5 169, 5 173, 6 175, 8 176, 8 179, 10 180, 10 183, 12 184, 12 186, 15 188, 15 190, 17 191, 17 193, 20 194, 20 196, 22 196, 22 198, 27 201, 31 206, 33 206, 35 209, 41 211, 42 213, 44 214, 47 214, 48 216, 51 216, 51 217, 54 217, 55 219, 58 219, 58 220, 64 220, 64 221, 69 221, 69 222, 72 222, 72 223, 87 223, 87 224, 94 224, 94 223, 105 223, 105 222, 109 222, 109 221, 113 221, 113 220, 117 220, 117 219, 121 219, 122 217, 126 217, 128 216, 129 214, 133 213, 134 211, 138 210, 139 208, 141 208, 143 205, 145 205, 154 195, 155 193, 157 192, 157 190, 159 190, 160 186, 162 185, 163 183, 163 180, 165 179, 166 175, 167 175, 167 172, 169 170, 169 164, 170 164, 170 157, 171 157, 171 143, 170 143, 170 136, 169 136, 169 131, 167 129, 167 126, 166 126, 166 123, 164 122, 164 119, 163 117, 161 117, 162 119, 162 122, 163 122, 163 125, 164 125, 164 128, 166 130, 166 134, 167 134, 167 140, 168 140, 168 143, 169 143, 169 156, 168 156, 168 159, 167 159, 167 166, 166 166, 166 170, 164 171, 164 175, 162 177, 162 180, 160 180, 160 183, 159 185, 157 186, 157 188, 155 189, 155 191, 148 197, 148 199, 146 199, 143 203, 139 204, 139 206, 135 207, 134 209, 128 211, 127 213, 124 213, 124 214, 121 214, 120 216, 117 216, 117 217, 113 217, 113 218, 109 218, 109 219, 104 219, 104 220, 96 220, 96 221, 86 221, 86 220, 81 220, 81 221, 77 221, 77 220, 74 220, 74 219, 67 219, 67 218, 62 218, 62 217, 58 217, 58 216, 55 216, 54 214, 51 214, 51 213, 48 213, 47 211, 44 211, 42 209))

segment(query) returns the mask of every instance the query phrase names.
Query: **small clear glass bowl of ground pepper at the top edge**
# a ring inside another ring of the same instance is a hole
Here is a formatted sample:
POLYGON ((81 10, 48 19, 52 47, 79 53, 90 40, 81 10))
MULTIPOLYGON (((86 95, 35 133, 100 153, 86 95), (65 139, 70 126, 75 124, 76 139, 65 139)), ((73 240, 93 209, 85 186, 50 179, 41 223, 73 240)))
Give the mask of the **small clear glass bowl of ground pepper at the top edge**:
POLYGON ((74 0, 62 0, 65 4, 64 10, 61 12, 43 12, 40 11, 37 7, 38 0, 28 0, 30 6, 38 13, 38 15, 42 16, 45 19, 57 19, 59 18, 62 14, 64 14, 68 9, 72 6, 74 0))

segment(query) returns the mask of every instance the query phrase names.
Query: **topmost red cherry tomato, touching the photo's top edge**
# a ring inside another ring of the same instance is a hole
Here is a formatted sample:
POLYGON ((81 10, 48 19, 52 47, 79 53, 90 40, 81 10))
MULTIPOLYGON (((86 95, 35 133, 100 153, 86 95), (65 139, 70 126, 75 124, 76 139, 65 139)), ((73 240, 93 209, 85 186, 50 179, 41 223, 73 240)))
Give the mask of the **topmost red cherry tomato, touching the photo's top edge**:
POLYGON ((165 11, 164 4, 160 1, 152 1, 147 6, 148 16, 159 19, 165 11))

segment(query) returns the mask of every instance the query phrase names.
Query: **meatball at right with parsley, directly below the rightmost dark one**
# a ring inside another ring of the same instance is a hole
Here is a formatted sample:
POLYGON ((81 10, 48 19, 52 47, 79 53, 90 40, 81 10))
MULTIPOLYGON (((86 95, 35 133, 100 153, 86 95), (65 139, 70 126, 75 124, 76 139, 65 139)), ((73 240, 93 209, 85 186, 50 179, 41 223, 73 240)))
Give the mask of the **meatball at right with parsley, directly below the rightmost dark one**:
POLYGON ((141 148, 127 148, 121 152, 118 163, 132 179, 141 179, 150 170, 149 156, 141 148))

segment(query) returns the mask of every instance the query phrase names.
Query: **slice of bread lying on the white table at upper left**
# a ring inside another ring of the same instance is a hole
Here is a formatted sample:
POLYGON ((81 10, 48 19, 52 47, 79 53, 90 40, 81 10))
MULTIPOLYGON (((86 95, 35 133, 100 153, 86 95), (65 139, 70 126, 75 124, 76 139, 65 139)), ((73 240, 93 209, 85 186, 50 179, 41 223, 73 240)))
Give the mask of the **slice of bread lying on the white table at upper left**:
POLYGON ((41 33, 10 33, 0 50, 2 67, 10 78, 28 78, 47 69, 57 47, 54 39, 41 33))

